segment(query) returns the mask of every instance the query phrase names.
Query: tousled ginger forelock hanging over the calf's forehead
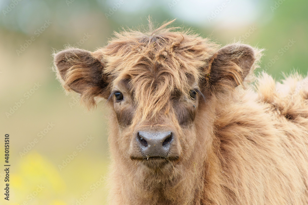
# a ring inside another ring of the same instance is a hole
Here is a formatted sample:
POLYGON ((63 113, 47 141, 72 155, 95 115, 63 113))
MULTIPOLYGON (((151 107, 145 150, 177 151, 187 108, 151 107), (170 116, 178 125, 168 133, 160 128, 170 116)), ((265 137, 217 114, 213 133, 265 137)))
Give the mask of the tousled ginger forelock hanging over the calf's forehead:
POLYGON ((95 52, 104 63, 112 85, 128 80, 140 115, 157 118, 168 115, 174 89, 188 95, 194 82, 204 77, 208 59, 219 46, 191 30, 168 27, 173 21, 147 31, 123 30, 108 45, 95 52))

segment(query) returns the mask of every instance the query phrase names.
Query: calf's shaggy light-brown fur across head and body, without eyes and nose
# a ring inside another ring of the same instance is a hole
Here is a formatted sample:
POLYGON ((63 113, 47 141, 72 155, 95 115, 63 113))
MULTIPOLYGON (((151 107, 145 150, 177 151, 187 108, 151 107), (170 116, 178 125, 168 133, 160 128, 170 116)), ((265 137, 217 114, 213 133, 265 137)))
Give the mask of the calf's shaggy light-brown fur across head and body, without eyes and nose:
POLYGON ((55 54, 65 89, 110 107, 110 204, 308 204, 308 79, 251 85, 260 50, 170 23, 55 54), (172 130, 170 157, 142 157, 139 130, 172 130))

